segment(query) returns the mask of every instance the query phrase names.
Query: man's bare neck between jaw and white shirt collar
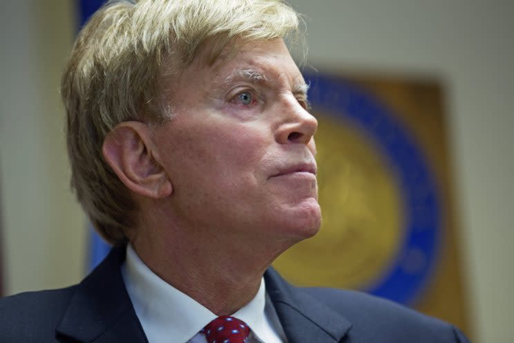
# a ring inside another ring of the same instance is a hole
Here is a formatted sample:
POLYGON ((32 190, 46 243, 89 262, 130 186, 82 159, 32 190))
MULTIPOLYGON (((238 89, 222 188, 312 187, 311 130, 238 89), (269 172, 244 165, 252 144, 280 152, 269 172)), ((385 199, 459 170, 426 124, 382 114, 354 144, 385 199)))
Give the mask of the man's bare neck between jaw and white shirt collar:
POLYGON ((161 279, 216 315, 231 315, 248 304, 265 270, 290 245, 271 249, 269 242, 248 244, 236 234, 206 237, 211 236, 207 232, 219 232, 216 228, 152 225, 146 229, 139 228, 142 234, 131 240, 140 259, 161 279))

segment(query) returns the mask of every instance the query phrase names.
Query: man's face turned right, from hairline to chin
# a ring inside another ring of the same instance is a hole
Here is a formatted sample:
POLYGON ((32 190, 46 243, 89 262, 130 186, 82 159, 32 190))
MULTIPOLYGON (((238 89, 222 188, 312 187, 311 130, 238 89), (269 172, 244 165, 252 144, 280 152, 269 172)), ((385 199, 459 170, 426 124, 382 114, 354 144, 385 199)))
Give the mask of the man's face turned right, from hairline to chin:
POLYGON ((305 239, 321 222, 307 87, 282 39, 237 51, 165 85, 174 117, 154 139, 173 216, 223 239, 305 239))

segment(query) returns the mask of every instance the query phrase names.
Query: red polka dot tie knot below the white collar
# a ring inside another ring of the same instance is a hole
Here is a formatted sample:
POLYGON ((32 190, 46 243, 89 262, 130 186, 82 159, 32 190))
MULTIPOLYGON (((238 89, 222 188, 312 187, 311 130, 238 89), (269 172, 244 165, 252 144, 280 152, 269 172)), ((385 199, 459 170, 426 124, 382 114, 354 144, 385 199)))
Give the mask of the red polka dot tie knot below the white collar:
POLYGON ((222 315, 202 328, 201 332, 209 343, 245 343, 250 328, 242 320, 222 315))

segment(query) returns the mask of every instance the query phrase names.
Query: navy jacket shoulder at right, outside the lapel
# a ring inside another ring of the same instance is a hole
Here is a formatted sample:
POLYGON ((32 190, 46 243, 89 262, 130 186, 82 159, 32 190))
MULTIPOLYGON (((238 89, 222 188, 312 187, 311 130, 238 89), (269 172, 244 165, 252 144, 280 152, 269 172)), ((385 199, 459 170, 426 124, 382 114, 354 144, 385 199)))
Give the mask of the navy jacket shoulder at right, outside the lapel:
POLYGON ((455 326, 387 299, 353 290, 303 290, 347 318, 352 322, 351 332, 369 337, 370 342, 381 342, 384 337, 401 337, 403 340, 409 337, 411 342, 468 343, 464 334, 455 326))

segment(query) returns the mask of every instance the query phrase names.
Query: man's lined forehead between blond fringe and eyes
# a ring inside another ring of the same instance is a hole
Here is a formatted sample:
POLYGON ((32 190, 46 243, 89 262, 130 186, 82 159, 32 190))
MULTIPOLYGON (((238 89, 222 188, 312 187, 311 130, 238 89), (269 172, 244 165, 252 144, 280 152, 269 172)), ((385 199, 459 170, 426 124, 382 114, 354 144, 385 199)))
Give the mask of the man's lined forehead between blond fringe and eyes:
POLYGON ((235 84, 259 83, 275 93, 306 96, 307 86, 283 39, 236 41, 209 63, 209 46, 176 77, 164 77, 163 91, 168 104, 188 109, 222 99, 235 84))

